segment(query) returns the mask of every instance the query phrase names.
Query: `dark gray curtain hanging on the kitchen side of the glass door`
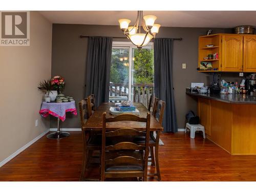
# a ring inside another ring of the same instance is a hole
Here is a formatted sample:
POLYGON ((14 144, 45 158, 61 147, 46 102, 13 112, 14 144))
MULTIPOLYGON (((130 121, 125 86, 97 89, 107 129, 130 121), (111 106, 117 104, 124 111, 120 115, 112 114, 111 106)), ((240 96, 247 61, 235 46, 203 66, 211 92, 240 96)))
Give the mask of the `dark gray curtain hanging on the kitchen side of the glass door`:
POLYGON ((155 95, 165 101, 164 132, 177 132, 173 87, 173 39, 154 41, 155 95))

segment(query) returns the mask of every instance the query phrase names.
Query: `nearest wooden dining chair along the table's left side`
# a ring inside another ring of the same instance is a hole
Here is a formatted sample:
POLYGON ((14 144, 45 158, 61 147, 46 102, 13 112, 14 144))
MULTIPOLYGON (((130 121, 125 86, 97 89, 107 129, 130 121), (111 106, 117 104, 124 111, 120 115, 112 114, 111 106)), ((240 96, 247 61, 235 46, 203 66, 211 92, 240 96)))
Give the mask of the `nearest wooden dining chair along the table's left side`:
MULTIPOLYGON (((87 115, 87 105, 88 99, 82 99, 79 102, 79 112, 80 112, 80 120, 81 120, 81 127, 83 127, 84 123, 86 123, 87 115)), ((82 130, 82 139, 83 139, 83 158, 82 158, 82 170, 80 180, 94 180, 90 178, 84 178, 84 174, 90 163, 91 158, 93 157, 94 151, 101 150, 101 134, 94 134, 91 131, 82 130)), ((98 159, 99 157, 95 157, 98 159)))

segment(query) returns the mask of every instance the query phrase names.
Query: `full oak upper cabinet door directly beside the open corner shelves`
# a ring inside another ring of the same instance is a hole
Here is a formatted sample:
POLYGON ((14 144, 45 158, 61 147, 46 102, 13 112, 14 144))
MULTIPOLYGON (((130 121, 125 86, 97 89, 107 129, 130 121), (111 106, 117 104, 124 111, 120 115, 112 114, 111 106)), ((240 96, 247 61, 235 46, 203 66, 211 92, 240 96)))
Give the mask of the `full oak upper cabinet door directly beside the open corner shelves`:
POLYGON ((222 71, 242 71, 243 36, 222 36, 222 71))

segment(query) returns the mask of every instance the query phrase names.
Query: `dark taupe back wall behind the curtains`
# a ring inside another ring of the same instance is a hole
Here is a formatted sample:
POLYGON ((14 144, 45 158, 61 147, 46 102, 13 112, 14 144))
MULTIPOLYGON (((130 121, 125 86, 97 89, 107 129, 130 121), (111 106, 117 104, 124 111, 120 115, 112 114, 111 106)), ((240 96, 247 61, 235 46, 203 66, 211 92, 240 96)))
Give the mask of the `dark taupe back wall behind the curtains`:
MULTIPOLYGON (((211 28, 212 33, 231 33, 231 29, 211 28)), ((174 42, 174 88, 178 128, 185 125, 185 114, 189 110, 197 111, 197 101, 185 94, 185 88, 190 82, 209 83, 209 75, 197 72, 198 66, 198 37, 206 34, 208 28, 173 28, 161 27, 157 37, 178 38, 174 42), (186 69, 182 69, 186 63, 186 69)), ((85 97, 86 60, 88 38, 86 36, 115 36, 123 37, 118 26, 100 25, 70 25, 53 24, 52 31, 52 76, 65 77, 66 88, 63 94, 73 96, 78 109, 78 102, 85 97)), ((125 41, 125 38, 114 38, 113 41, 125 41)), ((238 74, 233 74, 238 77, 238 74)), ((230 81, 233 75, 228 74, 230 81)), ((225 76, 225 74, 224 74, 225 76)), ((240 79, 240 78, 237 78, 240 79)), ((50 127, 56 127, 56 118, 51 117, 50 127)), ((79 113, 77 116, 67 114, 63 128, 80 127, 79 113)))

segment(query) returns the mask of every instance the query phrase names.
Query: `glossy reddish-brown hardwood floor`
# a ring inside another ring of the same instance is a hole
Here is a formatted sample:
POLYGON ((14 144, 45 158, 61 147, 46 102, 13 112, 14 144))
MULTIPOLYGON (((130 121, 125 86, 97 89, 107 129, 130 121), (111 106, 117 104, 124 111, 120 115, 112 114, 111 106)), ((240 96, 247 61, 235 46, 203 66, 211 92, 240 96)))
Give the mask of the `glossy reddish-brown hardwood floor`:
MULTIPOLYGON (((82 136, 70 133, 65 139, 44 136, 35 142, 0 167, 0 181, 78 181, 82 136)), ((189 133, 166 133, 161 139, 162 181, 256 181, 256 156, 231 156, 199 134, 190 139, 189 133)))

